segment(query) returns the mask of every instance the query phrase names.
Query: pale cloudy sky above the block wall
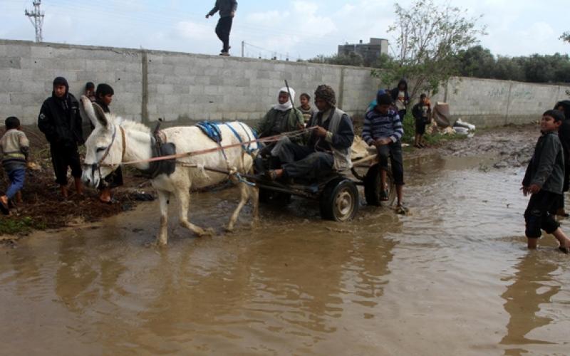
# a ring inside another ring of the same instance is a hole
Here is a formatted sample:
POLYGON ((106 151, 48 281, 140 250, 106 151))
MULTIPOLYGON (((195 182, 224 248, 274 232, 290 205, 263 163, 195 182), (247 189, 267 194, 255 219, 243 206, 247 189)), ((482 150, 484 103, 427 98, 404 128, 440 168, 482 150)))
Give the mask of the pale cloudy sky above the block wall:
MULTIPOLYGON (((436 0, 437 3, 441 1, 436 0)), ((33 41, 33 26, 24 16, 31 0, 0 0, 0 38, 33 41)), ((214 0, 44 0, 43 41, 95 46, 148 48, 216 54, 218 16, 205 19, 214 0)), ((399 1, 408 6, 411 1, 399 1)), ((245 41, 246 56, 291 59, 336 53, 338 44, 393 39, 394 1, 385 0, 238 0, 230 38, 232 56, 245 41)), ((570 53, 559 40, 570 31, 569 0, 455 0, 452 4, 483 15, 487 26, 481 45, 493 54, 570 53), (553 20, 554 19, 554 20, 553 20)))

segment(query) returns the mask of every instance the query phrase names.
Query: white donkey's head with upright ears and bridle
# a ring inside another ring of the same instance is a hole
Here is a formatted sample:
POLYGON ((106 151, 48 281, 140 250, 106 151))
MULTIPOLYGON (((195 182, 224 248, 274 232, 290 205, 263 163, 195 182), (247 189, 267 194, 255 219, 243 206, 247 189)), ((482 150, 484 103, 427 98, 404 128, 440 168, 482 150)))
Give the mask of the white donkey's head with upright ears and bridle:
POLYGON ((81 115, 88 117, 95 126, 85 142, 81 180, 90 187, 98 187, 120 165, 123 155, 120 127, 113 122, 112 115, 105 114, 99 105, 91 103, 85 95, 81 96, 81 115))

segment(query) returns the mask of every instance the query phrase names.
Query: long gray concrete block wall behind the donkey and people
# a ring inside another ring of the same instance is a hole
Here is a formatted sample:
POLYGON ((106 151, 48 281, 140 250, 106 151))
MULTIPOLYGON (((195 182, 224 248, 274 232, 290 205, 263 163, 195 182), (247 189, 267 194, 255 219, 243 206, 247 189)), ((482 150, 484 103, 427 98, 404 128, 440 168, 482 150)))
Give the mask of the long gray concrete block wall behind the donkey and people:
MULTIPOLYGON (((123 117, 153 122, 187 120, 257 120, 276 102, 284 80, 312 96, 326 83, 338 106, 361 114, 381 84, 370 68, 316 63, 226 58, 126 48, 72 46, 0 40, 0 119, 10 115, 36 122, 51 83, 66 77, 71 93, 88 81, 115 89, 112 108, 123 117)), ((504 80, 453 78, 432 101, 450 103, 452 115, 476 125, 504 125, 537 120, 541 112, 567 97, 570 87, 504 80)))

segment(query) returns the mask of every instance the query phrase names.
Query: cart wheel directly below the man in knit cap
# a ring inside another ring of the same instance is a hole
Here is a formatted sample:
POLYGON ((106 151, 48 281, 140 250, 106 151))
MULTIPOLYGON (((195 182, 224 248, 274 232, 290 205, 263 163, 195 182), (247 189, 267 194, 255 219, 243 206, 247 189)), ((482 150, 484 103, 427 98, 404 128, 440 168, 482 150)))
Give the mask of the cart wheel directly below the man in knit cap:
POLYGON ((321 217, 334 221, 348 221, 358 211, 358 189, 349 179, 333 179, 321 194, 321 217))

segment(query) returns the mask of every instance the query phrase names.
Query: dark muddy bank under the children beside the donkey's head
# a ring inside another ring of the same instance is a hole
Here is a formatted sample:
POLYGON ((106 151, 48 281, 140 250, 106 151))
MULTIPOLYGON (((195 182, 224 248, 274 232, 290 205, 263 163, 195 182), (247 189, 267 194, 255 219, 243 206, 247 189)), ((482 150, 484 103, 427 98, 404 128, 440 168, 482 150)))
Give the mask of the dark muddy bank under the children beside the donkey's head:
MULTIPOLYGON (((95 189, 85 189, 83 196, 78 196, 71 177, 68 183, 70 196, 62 199, 53 174, 49 145, 43 134, 28 127, 24 127, 24 132, 30 140, 30 161, 34 169, 26 172, 22 201, 15 204, 10 216, 0 216, 0 240, 13 239, 11 235, 25 235, 33 229, 58 229, 97 221, 133 209, 139 200, 152 199, 147 179, 136 176, 130 169, 123 170, 125 185, 114 191, 118 204, 101 203, 95 189)), ((0 135, 4 135, 4 130, 0 135)), ((4 193, 9 181, 4 169, 0 171, 0 191, 4 193)))

